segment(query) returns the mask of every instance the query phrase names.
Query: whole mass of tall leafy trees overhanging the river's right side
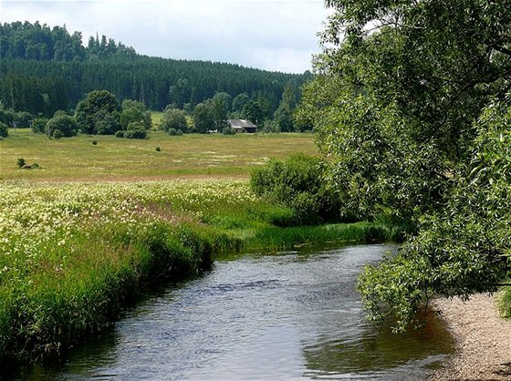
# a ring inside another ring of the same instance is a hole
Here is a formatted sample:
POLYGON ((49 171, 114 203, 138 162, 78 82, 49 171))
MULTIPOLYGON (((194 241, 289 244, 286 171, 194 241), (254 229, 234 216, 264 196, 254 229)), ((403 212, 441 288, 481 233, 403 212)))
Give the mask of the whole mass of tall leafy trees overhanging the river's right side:
POLYGON ((373 317, 381 317, 381 302, 389 304, 402 329, 432 293, 492 291, 505 273, 508 242, 495 240, 502 233, 490 227, 495 218, 509 220, 492 216, 485 201, 502 197, 505 185, 487 185, 493 190, 485 193, 464 179, 478 173, 477 152, 488 153, 486 172, 503 162, 502 152, 492 151, 495 134, 483 137, 491 126, 486 116, 495 115, 488 109, 509 106, 511 6, 326 3, 334 12, 298 114, 318 132, 320 148, 334 159, 331 177, 360 217, 421 221, 416 238, 360 280, 373 317))

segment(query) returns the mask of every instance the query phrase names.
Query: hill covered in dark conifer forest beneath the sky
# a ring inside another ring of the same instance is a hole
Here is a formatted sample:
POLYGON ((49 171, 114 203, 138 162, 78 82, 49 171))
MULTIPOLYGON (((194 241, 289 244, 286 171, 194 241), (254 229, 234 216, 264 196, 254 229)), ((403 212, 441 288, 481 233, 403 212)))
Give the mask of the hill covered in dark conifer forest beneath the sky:
POLYGON ((106 36, 90 37, 83 46, 81 33, 70 35, 65 26, 0 23, 0 101, 34 115, 49 117, 74 108, 89 91, 107 89, 154 110, 169 104, 191 109, 217 92, 232 98, 246 94, 270 116, 284 88, 297 89, 310 76, 146 57, 106 36))

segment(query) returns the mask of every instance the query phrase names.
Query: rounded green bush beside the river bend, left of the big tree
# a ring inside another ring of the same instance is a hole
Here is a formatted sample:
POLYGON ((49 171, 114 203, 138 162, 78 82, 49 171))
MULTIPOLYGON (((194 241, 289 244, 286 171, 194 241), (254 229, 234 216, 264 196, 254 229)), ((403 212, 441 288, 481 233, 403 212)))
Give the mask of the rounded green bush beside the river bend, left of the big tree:
POLYGON ((256 194, 294 211, 296 224, 352 221, 341 194, 325 179, 326 170, 319 158, 298 154, 253 170, 250 183, 256 194))

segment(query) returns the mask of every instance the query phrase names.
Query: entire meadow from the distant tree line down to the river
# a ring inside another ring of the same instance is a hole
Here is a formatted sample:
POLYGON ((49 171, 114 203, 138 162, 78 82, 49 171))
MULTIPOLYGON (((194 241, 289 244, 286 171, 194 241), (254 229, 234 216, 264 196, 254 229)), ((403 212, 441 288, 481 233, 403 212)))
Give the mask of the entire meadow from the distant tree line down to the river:
POLYGON ((94 139, 16 130, 0 141, 0 364, 65 355, 143 290, 200 273, 218 253, 399 234, 367 222, 276 226, 291 211, 256 197, 249 171, 314 153, 310 135, 94 139), (41 169, 18 169, 18 157, 41 169))

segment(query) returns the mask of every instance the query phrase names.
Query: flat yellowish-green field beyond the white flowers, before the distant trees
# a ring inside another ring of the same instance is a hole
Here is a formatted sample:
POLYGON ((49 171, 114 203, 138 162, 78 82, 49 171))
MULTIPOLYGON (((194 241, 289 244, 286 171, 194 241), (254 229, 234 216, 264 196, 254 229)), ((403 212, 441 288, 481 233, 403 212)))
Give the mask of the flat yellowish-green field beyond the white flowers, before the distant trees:
POLYGON ((148 139, 78 136, 47 139, 11 129, 0 140, 0 180, 157 180, 180 176, 248 176, 270 158, 317 154, 311 134, 187 134, 151 131, 148 139), (97 145, 92 141, 96 140, 97 145), (160 151, 156 148, 160 147, 160 151), (39 170, 20 170, 19 158, 39 170))

